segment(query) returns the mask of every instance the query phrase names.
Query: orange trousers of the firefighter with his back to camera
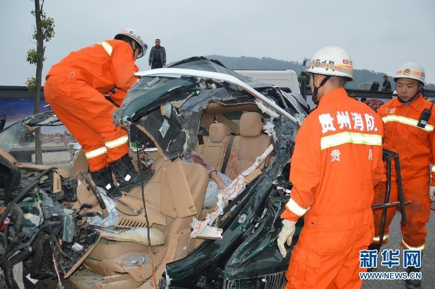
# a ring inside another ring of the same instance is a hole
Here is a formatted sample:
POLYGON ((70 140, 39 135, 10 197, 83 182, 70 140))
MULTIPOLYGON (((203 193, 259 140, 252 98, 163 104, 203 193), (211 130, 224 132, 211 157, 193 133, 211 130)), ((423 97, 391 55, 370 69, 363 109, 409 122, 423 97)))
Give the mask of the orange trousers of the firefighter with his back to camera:
POLYGON ((285 288, 359 289, 359 251, 366 250, 373 238, 373 224, 342 231, 323 231, 303 227, 290 257, 285 288))

